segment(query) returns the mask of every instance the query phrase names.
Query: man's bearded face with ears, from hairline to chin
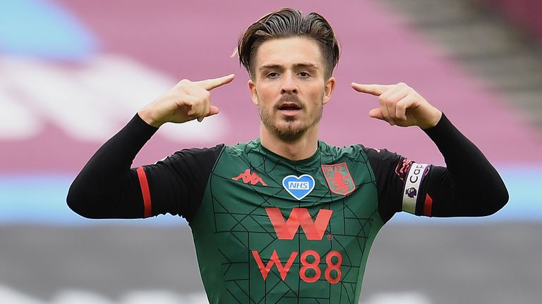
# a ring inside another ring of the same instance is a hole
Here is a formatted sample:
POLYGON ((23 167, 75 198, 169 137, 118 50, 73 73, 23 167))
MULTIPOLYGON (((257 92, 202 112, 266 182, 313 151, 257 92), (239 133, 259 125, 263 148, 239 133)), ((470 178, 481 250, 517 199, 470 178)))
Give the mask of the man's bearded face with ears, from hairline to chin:
POLYGON ((335 79, 325 79, 325 61, 317 42, 304 37, 264 42, 253 71, 248 87, 267 132, 294 141, 318 130, 335 79))

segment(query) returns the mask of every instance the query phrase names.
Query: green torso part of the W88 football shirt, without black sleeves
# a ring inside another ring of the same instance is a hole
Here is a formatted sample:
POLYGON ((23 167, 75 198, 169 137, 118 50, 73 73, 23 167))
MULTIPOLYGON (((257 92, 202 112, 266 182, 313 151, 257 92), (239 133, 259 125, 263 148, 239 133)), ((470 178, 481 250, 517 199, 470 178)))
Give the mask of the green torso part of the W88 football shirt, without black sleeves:
POLYGON ((210 303, 358 303, 383 220, 361 146, 224 146, 190 222, 210 303))

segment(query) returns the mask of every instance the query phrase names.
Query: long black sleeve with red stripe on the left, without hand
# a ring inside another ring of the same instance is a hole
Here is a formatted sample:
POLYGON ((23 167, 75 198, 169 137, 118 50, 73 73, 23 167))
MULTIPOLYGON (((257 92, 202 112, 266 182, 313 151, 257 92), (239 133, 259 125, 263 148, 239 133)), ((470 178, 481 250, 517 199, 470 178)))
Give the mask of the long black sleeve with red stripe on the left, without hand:
POLYGON ((67 203, 88 218, 142 218, 171 213, 190 218, 224 145, 186 149, 155 165, 131 168, 157 131, 138 115, 90 158, 68 191, 67 203))

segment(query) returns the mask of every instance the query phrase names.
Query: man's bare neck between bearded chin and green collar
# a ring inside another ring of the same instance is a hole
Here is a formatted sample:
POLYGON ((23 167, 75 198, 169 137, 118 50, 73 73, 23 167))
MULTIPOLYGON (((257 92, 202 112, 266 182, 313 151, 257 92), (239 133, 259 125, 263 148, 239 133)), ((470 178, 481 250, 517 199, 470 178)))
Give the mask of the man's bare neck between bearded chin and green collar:
POLYGON ((310 158, 318 148, 318 125, 312 127, 299 139, 284 141, 264 126, 260 129, 260 142, 267 150, 289 160, 310 158))

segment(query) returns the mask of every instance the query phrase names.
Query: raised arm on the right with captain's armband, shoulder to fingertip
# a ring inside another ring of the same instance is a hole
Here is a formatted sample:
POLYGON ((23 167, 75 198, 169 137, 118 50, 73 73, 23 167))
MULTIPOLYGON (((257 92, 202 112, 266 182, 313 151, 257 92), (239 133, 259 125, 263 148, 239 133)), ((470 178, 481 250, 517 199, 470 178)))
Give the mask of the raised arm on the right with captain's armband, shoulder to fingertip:
POLYGON ((371 117, 390 125, 421 127, 438 146, 447 165, 425 166, 395 153, 366 149, 377 179, 383 220, 401 210, 435 217, 483 216, 507 203, 507 189, 495 168, 416 91, 406 84, 352 86, 379 96, 380 108, 371 110, 371 117))

